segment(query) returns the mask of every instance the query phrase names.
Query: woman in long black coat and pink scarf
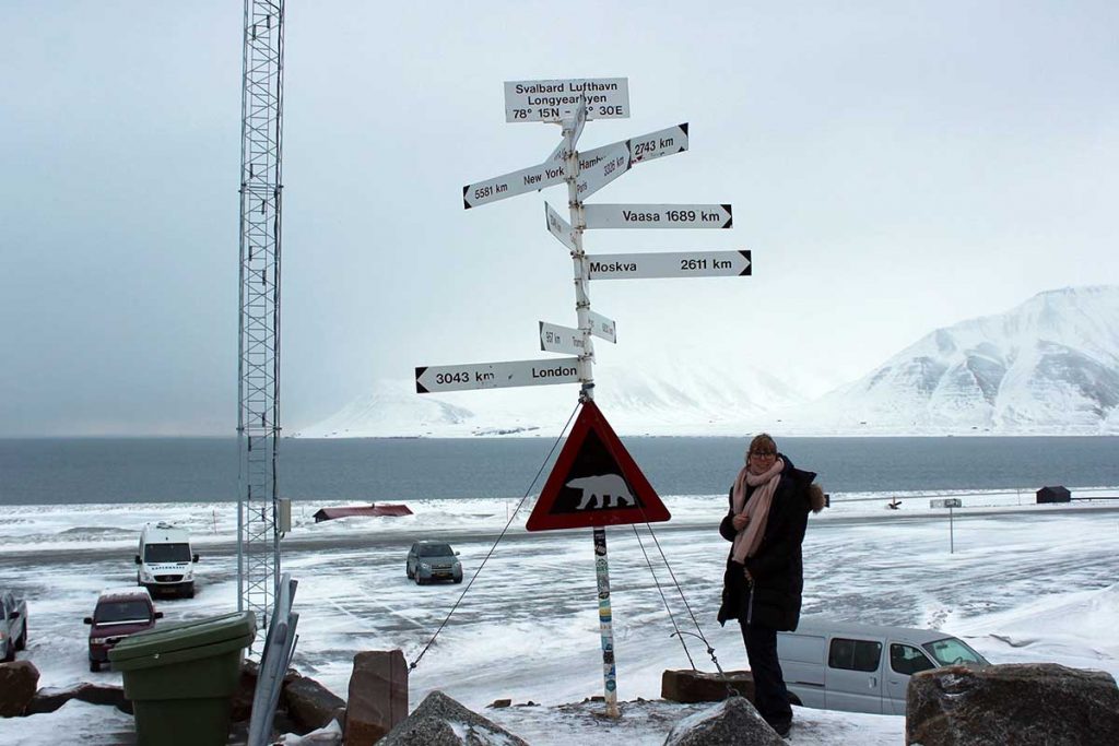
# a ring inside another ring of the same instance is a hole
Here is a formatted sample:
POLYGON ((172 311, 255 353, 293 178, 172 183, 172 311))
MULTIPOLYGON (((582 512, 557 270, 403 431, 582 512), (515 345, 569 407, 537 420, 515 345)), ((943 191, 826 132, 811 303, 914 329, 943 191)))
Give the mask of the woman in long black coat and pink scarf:
POLYGON ((784 736, 792 724, 789 691, 777 658, 778 631, 796 630, 805 587, 800 545, 808 511, 824 508, 814 472, 800 471, 762 433, 750 442, 746 465, 731 487, 731 510, 718 532, 731 545, 718 622, 742 625, 754 679, 754 706, 784 736))

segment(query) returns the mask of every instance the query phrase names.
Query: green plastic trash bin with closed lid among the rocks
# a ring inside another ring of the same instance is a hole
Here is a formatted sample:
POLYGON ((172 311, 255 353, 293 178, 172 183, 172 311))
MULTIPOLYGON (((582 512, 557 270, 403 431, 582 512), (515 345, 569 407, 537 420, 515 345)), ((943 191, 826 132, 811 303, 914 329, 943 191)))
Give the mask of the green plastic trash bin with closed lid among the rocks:
POLYGON ((109 651, 124 676, 140 746, 224 746, 252 612, 164 624, 109 651))

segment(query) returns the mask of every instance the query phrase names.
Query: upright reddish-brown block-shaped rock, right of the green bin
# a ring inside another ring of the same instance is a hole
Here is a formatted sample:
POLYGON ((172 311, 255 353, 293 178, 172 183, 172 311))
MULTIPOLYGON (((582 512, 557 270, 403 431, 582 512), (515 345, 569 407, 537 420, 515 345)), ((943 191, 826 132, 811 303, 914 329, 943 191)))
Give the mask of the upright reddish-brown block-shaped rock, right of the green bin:
POLYGON ((372 746, 408 716, 408 669, 399 650, 370 650, 354 657, 346 746, 372 746))

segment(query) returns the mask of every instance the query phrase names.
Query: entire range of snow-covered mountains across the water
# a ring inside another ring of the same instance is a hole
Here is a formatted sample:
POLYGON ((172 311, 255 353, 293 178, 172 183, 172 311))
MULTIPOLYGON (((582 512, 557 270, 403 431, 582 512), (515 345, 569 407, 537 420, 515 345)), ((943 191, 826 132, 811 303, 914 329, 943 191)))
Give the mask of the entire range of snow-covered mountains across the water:
MULTIPOLYGON (((873 332, 873 330, 868 330, 873 332)), ((623 435, 1119 434, 1119 287, 1041 293, 938 329, 810 400, 789 371, 700 351, 596 366, 596 400, 623 435)), ((558 434, 577 388, 415 394, 378 381, 301 437, 558 434)))

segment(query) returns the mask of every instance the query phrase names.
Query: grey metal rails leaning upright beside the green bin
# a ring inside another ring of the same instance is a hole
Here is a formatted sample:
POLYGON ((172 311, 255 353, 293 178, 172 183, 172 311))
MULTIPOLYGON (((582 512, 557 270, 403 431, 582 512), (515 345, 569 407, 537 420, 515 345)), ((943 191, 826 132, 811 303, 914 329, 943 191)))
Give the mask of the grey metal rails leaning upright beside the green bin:
POLYGON ((272 623, 269 624, 261 667, 256 674, 247 746, 267 746, 272 743, 272 720, 280 702, 280 689, 299 640, 295 634, 299 614, 291 612, 298 585, 299 580, 293 580, 291 573, 284 573, 280 578, 280 592, 272 608, 272 623))

